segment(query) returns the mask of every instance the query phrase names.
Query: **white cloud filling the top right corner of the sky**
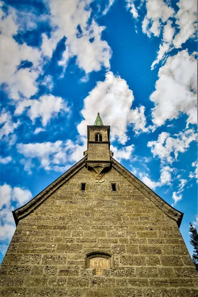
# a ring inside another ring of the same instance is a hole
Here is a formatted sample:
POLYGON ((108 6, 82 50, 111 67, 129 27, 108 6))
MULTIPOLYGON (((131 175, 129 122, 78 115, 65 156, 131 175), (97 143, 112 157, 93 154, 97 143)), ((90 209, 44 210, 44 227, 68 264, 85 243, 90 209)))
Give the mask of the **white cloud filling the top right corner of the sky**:
POLYGON ((196 36, 198 7, 197 1, 180 0, 177 2, 179 10, 176 14, 176 24, 179 26, 179 33, 173 40, 173 45, 180 48, 189 38, 196 36))

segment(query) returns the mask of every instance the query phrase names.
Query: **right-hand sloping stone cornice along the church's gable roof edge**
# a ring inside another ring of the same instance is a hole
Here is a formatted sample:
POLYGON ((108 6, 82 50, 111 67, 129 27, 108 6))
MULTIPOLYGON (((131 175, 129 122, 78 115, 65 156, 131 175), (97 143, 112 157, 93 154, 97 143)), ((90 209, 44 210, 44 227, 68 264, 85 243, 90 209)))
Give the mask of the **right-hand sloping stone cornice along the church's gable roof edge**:
POLYGON ((110 157, 112 160, 112 167, 114 167, 118 172, 120 172, 129 182, 131 182, 136 188, 138 188, 145 196, 147 196, 155 205, 157 205, 166 215, 177 222, 178 227, 180 227, 184 213, 177 210, 168 204, 165 200, 159 197, 155 192, 153 192, 147 185, 140 181, 135 175, 128 171, 124 166, 122 166, 115 159, 110 157))

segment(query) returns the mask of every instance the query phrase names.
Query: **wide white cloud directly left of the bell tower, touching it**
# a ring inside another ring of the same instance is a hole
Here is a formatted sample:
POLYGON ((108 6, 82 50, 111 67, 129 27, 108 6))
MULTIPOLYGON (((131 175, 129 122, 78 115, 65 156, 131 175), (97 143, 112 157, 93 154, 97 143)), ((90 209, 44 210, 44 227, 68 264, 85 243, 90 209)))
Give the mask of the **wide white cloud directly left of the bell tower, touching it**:
POLYGON ((87 149, 86 138, 80 137, 76 143, 71 140, 56 141, 54 143, 18 144, 17 150, 26 159, 22 159, 24 170, 31 173, 34 166, 32 159, 38 159, 45 170, 66 171, 74 162, 83 158, 83 151, 87 149))

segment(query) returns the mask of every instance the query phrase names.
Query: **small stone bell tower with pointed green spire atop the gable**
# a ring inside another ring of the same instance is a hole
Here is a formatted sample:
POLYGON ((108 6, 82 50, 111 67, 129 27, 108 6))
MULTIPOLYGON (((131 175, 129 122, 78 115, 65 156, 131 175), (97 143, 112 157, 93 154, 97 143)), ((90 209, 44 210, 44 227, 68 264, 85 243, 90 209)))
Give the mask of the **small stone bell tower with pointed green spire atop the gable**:
POLYGON ((86 167, 92 170, 96 179, 94 182, 103 182, 103 174, 111 168, 110 156, 110 126, 104 126, 99 112, 93 126, 87 126, 87 155, 86 167))

